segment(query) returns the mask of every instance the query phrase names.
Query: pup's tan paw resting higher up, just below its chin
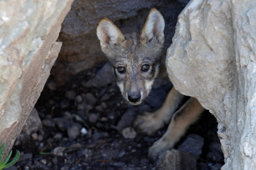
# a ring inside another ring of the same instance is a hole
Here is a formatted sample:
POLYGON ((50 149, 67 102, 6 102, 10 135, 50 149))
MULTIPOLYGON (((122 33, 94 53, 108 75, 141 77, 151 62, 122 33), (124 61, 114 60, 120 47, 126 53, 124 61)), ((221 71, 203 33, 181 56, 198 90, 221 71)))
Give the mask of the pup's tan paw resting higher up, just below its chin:
POLYGON ((164 125, 164 122, 158 118, 156 112, 144 112, 143 115, 137 116, 133 121, 133 126, 136 128, 138 133, 145 134, 147 136, 154 136, 154 134, 164 125))

